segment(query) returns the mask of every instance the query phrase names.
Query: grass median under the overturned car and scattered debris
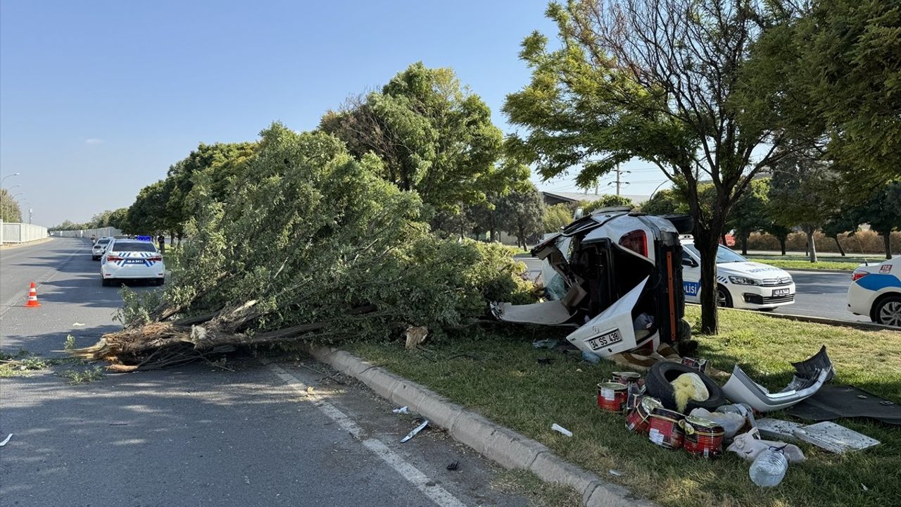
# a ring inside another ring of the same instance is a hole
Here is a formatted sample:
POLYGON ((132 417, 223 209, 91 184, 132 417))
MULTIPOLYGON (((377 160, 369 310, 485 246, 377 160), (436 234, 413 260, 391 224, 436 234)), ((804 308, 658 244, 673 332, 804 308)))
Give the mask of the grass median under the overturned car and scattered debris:
MULTIPOLYGON (((724 310, 719 336, 697 336, 700 355, 725 371, 738 362, 759 383, 781 389, 791 378, 790 361, 826 345, 835 384, 854 384, 901 403, 901 333, 777 320, 724 310)), ((689 322, 699 310, 687 309, 689 322)), ((432 352, 405 351, 401 344, 360 343, 350 352, 423 383, 489 419, 535 438, 569 461, 607 480, 629 486, 667 506, 879 506, 901 498, 901 431, 862 419, 837 422, 882 442, 865 452, 833 455, 802 445, 807 461, 789 467, 776 488, 751 483, 749 463, 731 453, 705 461, 669 451, 624 428, 622 415, 598 410, 596 383, 617 368, 587 364, 557 352, 535 350, 533 339, 552 330, 518 328, 515 333, 473 332, 441 343, 432 352), (465 355, 464 355, 465 354, 465 355), (551 357, 541 365, 537 359, 551 357), (551 431, 558 423, 573 438, 551 431), (623 475, 610 475, 616 469, 623 475), (865 491, 861 484, 866 485, 865 491)), ((771 414, 787 418, 784 413, 771 414)))

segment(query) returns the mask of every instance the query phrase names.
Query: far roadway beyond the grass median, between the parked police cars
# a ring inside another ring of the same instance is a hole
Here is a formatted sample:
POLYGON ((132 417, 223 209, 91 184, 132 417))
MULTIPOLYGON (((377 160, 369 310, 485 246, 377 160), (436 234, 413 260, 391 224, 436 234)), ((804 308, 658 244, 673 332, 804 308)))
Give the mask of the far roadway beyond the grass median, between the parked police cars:
MULTIPOLYGON (((519 257, 535 278, 542 271, 542 261, 533 257, 519 257)), ((849 322, 869 322, 868 317, 854 315, 848 311, 845 295, 851 283, 851 272, 801 272, 789 271, 795 279, 795 304, 779 307, 773 313, 805 315, 845 320, 849 322)))

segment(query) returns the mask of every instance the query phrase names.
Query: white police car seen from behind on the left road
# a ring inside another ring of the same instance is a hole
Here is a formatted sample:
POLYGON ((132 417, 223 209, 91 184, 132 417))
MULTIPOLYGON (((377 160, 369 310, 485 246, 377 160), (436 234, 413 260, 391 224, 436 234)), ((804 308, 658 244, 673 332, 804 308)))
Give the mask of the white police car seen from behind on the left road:
POLYGON ((113 238, 100 257, 100 278, 104 285, 114 280, 147 280, 162 285, 166 265, 150 236, 113 238))

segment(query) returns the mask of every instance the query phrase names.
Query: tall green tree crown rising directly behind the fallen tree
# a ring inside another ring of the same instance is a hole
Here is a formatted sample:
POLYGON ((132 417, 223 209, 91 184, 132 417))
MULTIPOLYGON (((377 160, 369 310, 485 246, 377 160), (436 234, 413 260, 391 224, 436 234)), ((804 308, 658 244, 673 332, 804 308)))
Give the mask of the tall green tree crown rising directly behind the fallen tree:
POLYGON ((452 69, 415 63, 380 91, 326 113, 320 129, 347 143, 358 159, 378 155, 385 180, 416 190, 435 209, 460 211, 528 178, 523 165, 498 163, 501 131, 452 69))

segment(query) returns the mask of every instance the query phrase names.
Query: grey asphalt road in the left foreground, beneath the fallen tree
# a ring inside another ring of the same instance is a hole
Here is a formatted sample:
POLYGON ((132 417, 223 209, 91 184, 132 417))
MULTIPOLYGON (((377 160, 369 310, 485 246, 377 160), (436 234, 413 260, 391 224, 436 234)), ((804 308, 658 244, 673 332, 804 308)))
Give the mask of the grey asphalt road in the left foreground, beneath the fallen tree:
MULTIPOLYGON (((117 328, 119 291, 101 287, 86 247, 56 238, 0 251, 4 352, 61 355, 53 351, 68 334, 86 346, 117 328), (21 307, 32 280, 40 309, 21 307)), ((54 374, 83 367, 72 364, 2 379, 0 439, 14 435, 0 448, 0 503, 528 504, 492 488, 496 467, 439 430, 400 444, 417 421, 350 379, 334 383, 310 360, 271 361, 106 374, 76 386, 54 374), (454 461, 459 470, 448 471, 454 461)))

